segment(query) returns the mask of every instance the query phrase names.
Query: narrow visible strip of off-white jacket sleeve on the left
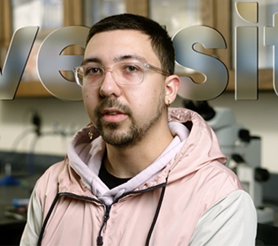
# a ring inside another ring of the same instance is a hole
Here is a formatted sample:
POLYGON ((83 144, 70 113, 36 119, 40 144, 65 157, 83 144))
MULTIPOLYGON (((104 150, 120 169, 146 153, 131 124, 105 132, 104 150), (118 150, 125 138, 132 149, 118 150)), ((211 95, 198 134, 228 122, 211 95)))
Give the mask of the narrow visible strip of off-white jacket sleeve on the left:
POLYGON ((27 223, 21 236, 19 246, 37 245, 42 225, 41 204, 36 195, 36 187, 32 191, 28 206, 27 223))

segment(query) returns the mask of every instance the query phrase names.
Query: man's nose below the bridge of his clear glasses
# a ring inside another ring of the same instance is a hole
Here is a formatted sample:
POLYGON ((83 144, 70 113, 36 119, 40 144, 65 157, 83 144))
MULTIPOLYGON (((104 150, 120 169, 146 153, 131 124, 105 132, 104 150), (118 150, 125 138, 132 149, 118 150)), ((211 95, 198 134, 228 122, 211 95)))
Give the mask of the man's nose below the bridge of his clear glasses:
POLYGON ((121 94, 121 88, 116 83, 112 71, 107 70, 106 73, 104 74, 101 87, 99 88, 99 94, 102 97, 110 97, 111 95, 114 95, 115 97, 119 97, 119 95, 121 94))

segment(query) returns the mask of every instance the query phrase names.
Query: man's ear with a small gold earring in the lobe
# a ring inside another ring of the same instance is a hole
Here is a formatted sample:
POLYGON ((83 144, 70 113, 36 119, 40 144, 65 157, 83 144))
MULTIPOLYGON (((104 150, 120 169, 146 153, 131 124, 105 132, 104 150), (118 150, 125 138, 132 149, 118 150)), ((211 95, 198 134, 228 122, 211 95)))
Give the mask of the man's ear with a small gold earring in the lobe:
POLYGON ((175 101, 177 97, 177 91, 179 90, 179 85, 181 81, 179 76, 170 75, 165 80, 165 104, 171 104, 175 101))

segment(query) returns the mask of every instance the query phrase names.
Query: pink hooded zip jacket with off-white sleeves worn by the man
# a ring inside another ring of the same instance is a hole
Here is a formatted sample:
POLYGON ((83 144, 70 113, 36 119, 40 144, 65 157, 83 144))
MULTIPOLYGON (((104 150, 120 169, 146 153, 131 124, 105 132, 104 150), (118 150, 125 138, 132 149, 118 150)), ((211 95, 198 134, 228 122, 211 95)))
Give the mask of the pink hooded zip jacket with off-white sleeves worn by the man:
POLYGON ((169 108, 168 118, 170 146, 111 190, 98 178, 103 140, 89 142, 88 127, 77 132, 66 160, 34 188, 21 246, 255 245, 254 205, 215 133, 184 108, 169 108))

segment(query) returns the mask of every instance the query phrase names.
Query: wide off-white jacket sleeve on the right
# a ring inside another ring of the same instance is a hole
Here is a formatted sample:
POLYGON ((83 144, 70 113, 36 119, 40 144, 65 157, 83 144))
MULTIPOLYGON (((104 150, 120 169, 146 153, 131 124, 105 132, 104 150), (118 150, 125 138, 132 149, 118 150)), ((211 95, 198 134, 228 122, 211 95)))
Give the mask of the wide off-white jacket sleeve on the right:
POLYGON ((254 246, 257 213, 246 191, 236 190, 210 207, 198 220, 190 246, 254 246))

